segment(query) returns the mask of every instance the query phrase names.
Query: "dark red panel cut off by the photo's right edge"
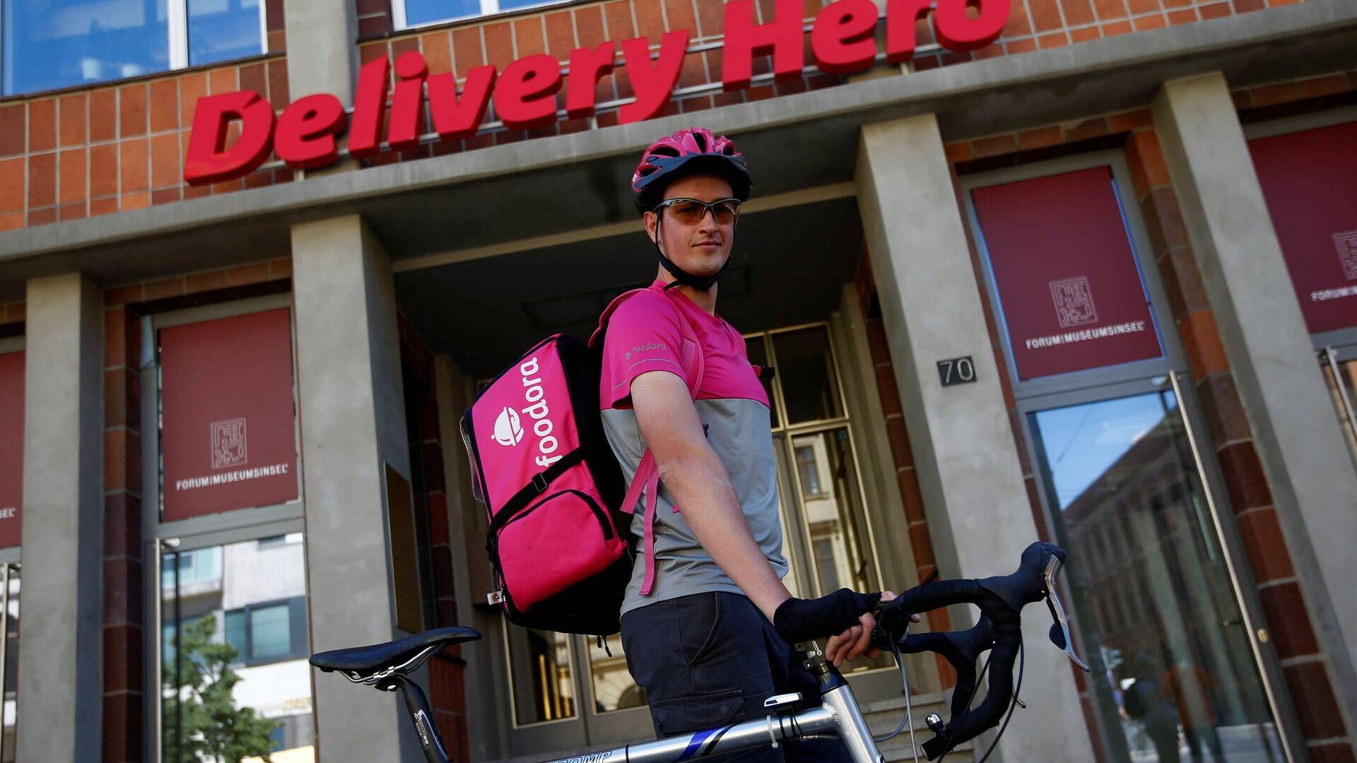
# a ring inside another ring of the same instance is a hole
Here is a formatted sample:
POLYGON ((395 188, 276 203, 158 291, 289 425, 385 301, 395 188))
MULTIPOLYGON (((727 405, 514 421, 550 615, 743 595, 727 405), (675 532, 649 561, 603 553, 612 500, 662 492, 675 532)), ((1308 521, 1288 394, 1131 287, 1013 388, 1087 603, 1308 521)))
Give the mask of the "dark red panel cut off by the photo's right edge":
POLYGON ((1305 326, 1357 326, 1357 122, 1251 140, 1248 151, 1305 326))

